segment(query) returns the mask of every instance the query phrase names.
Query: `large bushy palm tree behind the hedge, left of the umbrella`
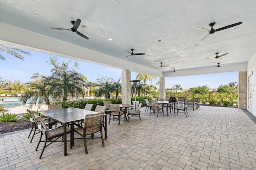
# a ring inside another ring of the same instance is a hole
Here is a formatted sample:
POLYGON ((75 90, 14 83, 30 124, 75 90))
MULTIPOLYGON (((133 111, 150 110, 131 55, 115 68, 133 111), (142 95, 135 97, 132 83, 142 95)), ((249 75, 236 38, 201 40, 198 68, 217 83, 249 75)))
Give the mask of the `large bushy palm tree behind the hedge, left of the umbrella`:
POLYGON ((47 77, 44 83, 50 85, 51 94, 54 94, 55 97, 63 97, 63 101, 67 101, 69 94, 77 97, 81 94, 84 97, 84 92, 81 89, 81 86, 84 85, 84 79, 82 79, 81 73, 75 70, 79 68, 79 65, 75 62, 70 69, 70 61, 62 62, 60 65, 56 56, 50 57, 47 61, 53 66, 53 69, 51 70, 52 75, 47 77))

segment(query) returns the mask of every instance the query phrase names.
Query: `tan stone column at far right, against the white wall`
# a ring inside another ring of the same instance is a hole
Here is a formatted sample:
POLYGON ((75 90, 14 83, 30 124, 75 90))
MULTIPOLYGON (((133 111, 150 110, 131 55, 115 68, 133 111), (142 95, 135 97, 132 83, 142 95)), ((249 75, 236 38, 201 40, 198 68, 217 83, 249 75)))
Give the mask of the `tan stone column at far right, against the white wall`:
POLYGON ((238 109, 247 109, 247 71, 240 71, 238 77, 238 109))

